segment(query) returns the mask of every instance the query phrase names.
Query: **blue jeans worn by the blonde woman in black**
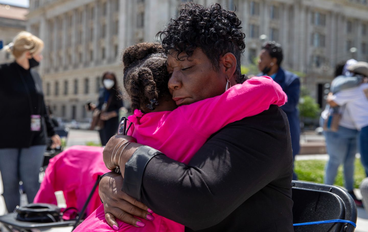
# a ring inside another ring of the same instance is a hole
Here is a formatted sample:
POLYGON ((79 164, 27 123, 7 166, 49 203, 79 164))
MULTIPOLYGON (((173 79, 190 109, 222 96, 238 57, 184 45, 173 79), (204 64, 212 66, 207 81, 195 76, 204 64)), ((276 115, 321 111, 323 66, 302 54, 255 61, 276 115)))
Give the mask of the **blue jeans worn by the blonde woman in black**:
POLYGON ((32 203, 40 187, 38 177, 46 145, 29 148, 0 148, 0 172, 6 208, 13 212, 20 204, 19 181, 23 182, 28 202, 32 203))

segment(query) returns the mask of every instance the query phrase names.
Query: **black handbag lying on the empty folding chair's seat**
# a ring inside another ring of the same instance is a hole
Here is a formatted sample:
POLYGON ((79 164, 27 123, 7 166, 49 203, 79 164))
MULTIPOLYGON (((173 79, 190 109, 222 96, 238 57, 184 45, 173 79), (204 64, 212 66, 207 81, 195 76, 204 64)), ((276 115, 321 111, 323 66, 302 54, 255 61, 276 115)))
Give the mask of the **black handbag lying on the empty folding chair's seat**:
POLYGON ((17 220, 24 222, 59 222, 60 208, 53 204, 31 203, 15 209, 17 220))

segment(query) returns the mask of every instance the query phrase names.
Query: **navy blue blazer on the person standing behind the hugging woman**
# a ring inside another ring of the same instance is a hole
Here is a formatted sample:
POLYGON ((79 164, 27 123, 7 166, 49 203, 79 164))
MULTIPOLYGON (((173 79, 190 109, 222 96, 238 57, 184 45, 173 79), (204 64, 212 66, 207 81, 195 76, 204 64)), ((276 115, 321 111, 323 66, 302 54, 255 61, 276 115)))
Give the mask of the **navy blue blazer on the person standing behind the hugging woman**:
MULTIPOLYGON (((261 74, 263 75, 263 74, 261 74)), ((286 113, 290 125, 291 146, 293 147, 293 157, 300 151, 300 123, 299 110, 297 108, 300 95, 300 79, 289 71, 279 68, 276 77, 273 79, 279 84, 287 95, 287 102, 280 108, 286 113)))

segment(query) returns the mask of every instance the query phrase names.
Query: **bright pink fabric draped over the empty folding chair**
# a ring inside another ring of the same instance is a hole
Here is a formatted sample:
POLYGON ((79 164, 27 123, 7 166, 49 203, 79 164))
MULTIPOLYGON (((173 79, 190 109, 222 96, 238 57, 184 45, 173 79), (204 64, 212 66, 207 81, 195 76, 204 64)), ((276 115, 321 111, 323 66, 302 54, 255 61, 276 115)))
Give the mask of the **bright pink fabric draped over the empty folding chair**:
MULTIPOLYGON (((63 191, 68 207, 80 212, 98 176, 109 172, 102 158, 102 147, 72 146, 50 159, 35 203, 57 204, 55 191, 63 191)), ((86 208, 86 216, 101 205, 98 188, 86 208)), ((64 215, 68 219, 69 214, 64 215)))

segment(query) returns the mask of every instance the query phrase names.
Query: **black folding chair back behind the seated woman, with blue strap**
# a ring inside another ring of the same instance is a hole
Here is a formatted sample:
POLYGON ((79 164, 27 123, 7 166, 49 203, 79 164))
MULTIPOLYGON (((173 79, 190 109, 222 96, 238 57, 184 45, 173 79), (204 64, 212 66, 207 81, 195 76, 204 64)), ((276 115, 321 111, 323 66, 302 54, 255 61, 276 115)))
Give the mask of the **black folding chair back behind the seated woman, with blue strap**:
POLYGON ((357 207, 353 198, 340 187, 311 182, 293 181, 293 223, 295 232, 353 232, 357 207), (309 224, 326 220, 344 220, 309 224), (353 223, 350 223, 353 222, 353 223))

